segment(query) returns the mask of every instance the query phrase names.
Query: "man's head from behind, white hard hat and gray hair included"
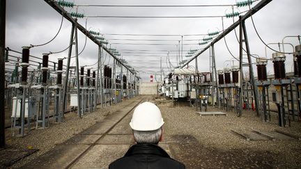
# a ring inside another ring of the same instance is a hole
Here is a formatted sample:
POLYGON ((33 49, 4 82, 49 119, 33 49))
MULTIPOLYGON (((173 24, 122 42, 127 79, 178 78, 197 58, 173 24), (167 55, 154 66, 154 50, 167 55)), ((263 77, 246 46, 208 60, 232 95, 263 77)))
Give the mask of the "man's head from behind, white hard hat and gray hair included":
POLYGON ((134 109, 130 127, 137 143, 157 144, 162 139, 163 124, 160 109, 151 102, 144 102, 134 109))

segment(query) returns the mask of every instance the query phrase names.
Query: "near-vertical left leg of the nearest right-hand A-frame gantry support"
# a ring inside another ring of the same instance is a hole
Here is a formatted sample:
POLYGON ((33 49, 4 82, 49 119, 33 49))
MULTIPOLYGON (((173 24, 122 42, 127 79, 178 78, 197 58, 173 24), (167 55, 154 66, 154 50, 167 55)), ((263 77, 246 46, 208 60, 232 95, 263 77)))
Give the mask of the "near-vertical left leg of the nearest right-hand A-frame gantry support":
POLYGON ((242 19, 241 19, 241 16, 240 16, 240 86, 238 86, 238 96, 239 96, 239 107, 238 107, 238 117, 240 117, 242 115, 242 77, 243 77, 243 70, 242 70, 242 19))

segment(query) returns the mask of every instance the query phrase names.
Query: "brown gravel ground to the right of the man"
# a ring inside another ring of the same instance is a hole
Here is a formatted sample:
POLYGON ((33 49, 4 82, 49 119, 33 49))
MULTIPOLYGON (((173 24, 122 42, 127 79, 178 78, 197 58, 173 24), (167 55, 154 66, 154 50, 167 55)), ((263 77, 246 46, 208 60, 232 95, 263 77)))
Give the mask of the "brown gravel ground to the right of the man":
MULTIPOLYGON (((198 143, 171 145, 175 158, 187 168, 301 168, 300 140, 247 141, 231 132, 231 129, 281 129, 301 136, 301 123, 291 127, 279 127, 277 114, 271 122, 262 122, 253 111, 244 111, 241 118, 234 112, 224 116, 199 116, 195 107, 157 104, 165 120, 165 134, 191 135, 198 143), (169 106, 168 106, 169 105, 169 106)), ((208 111, 222 111, 209 107, 208 111)))

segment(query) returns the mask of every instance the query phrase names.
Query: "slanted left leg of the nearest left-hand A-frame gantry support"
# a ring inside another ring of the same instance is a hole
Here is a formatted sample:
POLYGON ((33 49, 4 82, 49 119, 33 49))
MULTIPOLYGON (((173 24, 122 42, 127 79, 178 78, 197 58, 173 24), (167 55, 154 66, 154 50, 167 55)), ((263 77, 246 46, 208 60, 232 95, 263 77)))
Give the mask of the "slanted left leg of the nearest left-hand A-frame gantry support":
POLYGON ((73 43, 73 35, 74 35, 74 30, 75 30, 75 24, 72 24, 72 29, 71 29, 71 34, 70 34, 70 42, 69 42, 69 51, 68 51, 68 60, 67 60, 67 67, 66 67, 66 72, 65 72, 65 81, 63 85, 63 115, 65 113, 65 107, 67 104, 67 89, 68 89, 68 79, 69 79, 69 69, 70 69, 70 60, 71 60, 71 54, 72 54, 72 43, 73 43))

